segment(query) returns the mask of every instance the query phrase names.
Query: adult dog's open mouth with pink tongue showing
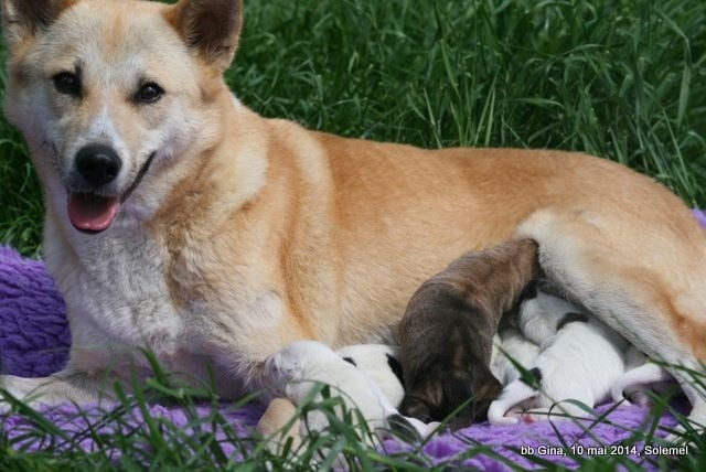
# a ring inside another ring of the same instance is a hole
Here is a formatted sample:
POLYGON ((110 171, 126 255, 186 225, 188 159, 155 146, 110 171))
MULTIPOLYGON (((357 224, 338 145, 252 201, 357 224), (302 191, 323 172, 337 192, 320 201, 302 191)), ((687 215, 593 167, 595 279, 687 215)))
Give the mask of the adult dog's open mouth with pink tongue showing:
POLYGON ((150 154, 128 190, 120 197, 104 196, 96 193, 68 192, 66 211, 72 225, 79 232, 88 234, 98 234, 108 229, 118 217, 122 202, 130 196, 142 181, 154 159, 154 152, 150 154))

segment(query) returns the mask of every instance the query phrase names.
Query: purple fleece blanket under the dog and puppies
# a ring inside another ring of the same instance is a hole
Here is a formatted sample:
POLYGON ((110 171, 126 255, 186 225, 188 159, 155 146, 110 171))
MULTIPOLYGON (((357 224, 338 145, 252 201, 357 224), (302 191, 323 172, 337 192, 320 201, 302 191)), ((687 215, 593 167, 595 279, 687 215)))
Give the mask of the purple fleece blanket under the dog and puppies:
MULTIPOLYGON (((694 215, 706 227, 706 213, 694 211, 694 215)), ((71 333, 66 322, 66 313, 61 294, 45 271, 44 265, 38 260, 22 258, 14 250, 0 247, 0 361, 3 374, 23 377, 46 376, 66 363, 71 333)), ((253 436, 255 425, 263 408, 249 404, 240 408, 221 404, 216 406, 237 435, 253 436)), ((197 406, 199 415, 207 415, 212 405, 197 406)), ((565 444, 577 448, 588 448, 600 444, 617 444, 632 437, 633 431, 652 427, 649 409, 638 406, 618 406, 608 404, 597 408, 598 414, 606 414, 607 421, 592 425, 564 421, 555 423, 537 422, 517 426, 493 426, 488 423, 473 425, 456 433, 440 433, 434 437, 425 447, 424 453, 432 463, 450 462, 463 453, 469 447, 483 444, 489 448, 488 453, 480 453, 471 459, 462 460, 463 465, 489 470, 506 470, 506 463, 501 457, 511 460, 516 465, 536 468, 536 463, 528 455, 567 466, 577 463, 564 454, 565 444), (557 429, 560 436, 557 435, 557 429), (563 442, 565 441, 565 442, 563 442)), ((54 425, 67 435, 78 432, 89 427, 92 416, 79 412, 72 405, 61 406, 44 411, 54 425)), ((152 417, 169 419, 176 426, 189 422, 189 415, 178 406, 152 405, 148 411, 152 417)), ((133 411, 130 416, 132 427, 143 422, 145 411, 133 411)), ((1 418, 4 435, 18 438, 28 428, 30 421, 21 416, 1 418)), ((672 428, 675 419, 665 414, 660 420, 661 428, 672 428)), ((110 432, 115 426, 101 423, 103 432, 110 432)), ((657 430, 657 436, 665 432, 657 430)), ((96 446, 86 439, 78 444, 87 451, 96 446)), ((41 448, 41 443, 23 444, 29 449, 41 448)), ((228 449, 223 444, 226 453, 238 454, 235 447, 228 449)), ((410 447, 395 440, 383 443, 387 453, 409 450, 410 447)), ((580 451, 580 449, 577 449, 580 451)), ((652 468, 653 459, 645 454, 630 455, 643 466, 652 468)))

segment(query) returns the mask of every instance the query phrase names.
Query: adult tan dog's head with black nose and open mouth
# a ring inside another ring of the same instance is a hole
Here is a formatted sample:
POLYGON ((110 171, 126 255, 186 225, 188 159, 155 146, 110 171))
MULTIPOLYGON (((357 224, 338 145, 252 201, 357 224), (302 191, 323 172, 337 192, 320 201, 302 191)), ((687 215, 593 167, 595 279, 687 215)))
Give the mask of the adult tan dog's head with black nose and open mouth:
POLYGON ((213 146, 242 0, 1 1, 6 115, 25 136, 47 203, 85 233, 148 217, 165 185, 154 168, 213 146))

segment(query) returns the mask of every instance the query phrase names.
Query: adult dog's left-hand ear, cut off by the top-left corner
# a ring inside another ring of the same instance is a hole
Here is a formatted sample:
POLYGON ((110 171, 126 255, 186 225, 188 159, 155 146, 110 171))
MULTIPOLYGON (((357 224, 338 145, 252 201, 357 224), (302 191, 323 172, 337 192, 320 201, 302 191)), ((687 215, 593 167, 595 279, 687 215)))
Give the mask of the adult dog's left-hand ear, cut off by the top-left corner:
POLYGON ((1 0, 2 29, 9 46, 47 28, 77 0, 1 0))

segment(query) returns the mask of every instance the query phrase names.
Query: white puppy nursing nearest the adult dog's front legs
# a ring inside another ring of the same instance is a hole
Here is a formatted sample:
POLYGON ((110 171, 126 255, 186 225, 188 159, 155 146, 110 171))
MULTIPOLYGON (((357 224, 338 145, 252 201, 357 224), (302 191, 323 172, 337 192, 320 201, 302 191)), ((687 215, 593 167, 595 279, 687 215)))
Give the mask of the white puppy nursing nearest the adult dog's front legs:
MULTIPOLYGON (((424 437, 432 429, 402 418, 363 372, 315 341, 296 341, 269 356, 263 367, 263 382, 276 397, 286 397, 296 406, 308 399, 317 382, 328 384, 332 387, 331 395, 340 396, 347 409, 361 411, 371 431, 386 433, 393 427, 404 427, 424 437)), ((328 426, 325 414, 313 410, 300 429, 321 431, 328 426)))

